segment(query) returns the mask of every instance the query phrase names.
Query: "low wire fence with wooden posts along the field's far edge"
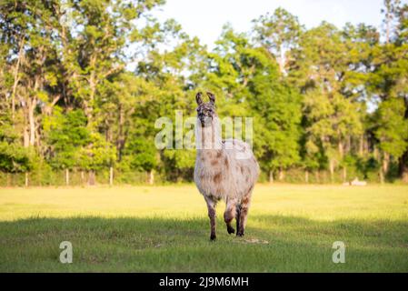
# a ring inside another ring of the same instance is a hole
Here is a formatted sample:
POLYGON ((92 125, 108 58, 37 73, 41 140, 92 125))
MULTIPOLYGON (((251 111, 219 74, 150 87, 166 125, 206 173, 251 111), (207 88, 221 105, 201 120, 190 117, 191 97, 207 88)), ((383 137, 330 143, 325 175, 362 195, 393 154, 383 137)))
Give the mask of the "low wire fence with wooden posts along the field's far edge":
MULTIPOLYGON (((353 170, 349 170, 344 176, 343 171, 336 171, 333 176, 329 171, 305 171, 291 169, 283 173, 274 173, 273 180, 268 173, 261 173, 261 183, 292 183, 292 184, 342 184, 357 178, 368 183, 380 183, 378 173, 370 173, 363 176, 353 170)), ((168 179, 162 173, 146 173, 120 171, 114 168, 106 168, 95 173, 88 171, 71 170, 68 173, 61 171, 33 171, 30 173, 4 173, 0 172, 0 186, 90 186, 90 185, 164 185, 171 183, 191 183, 193 176, 174 181, 168 179)), ((387 182, 393 182, 388 179, 387 182)))

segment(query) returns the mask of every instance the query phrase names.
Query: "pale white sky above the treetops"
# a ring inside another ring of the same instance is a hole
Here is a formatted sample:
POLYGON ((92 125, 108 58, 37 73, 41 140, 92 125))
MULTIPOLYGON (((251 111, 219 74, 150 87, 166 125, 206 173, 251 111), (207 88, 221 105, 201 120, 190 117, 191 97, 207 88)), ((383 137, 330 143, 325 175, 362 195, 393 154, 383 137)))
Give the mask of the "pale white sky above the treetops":
POLYGON ((383 0, 166 0, 154 13, 160 20, 174 18, 188 35, 210 48, 229 22, 238 32, 248 31, 254 18, 281 6, 311 28, 326 20, 341 28, 347 22, 381 28, 383 0))

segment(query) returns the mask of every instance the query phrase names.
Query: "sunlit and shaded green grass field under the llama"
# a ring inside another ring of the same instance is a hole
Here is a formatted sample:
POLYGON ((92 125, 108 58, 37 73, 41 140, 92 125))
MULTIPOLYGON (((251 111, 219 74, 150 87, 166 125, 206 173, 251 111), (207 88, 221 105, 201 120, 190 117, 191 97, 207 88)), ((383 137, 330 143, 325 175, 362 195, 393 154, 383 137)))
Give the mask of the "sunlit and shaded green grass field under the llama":
POLYGON ((3 188, 0 271, 408 272, 408 186, 258 185, 243 238, 223 212, 211 242, 194 186, 3 188))

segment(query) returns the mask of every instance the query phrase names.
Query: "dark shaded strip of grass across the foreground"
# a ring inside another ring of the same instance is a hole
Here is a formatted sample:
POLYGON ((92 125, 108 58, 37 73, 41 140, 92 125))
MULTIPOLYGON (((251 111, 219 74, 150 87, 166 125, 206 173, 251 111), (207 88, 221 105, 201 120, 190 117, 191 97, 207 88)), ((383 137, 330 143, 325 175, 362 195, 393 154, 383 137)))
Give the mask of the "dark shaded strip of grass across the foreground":
POLYGON ((219 218, 31 218, 0 222, 2 272, 407 272, 408 222, 250 216, 246 236, 219 218), (73 264, 61 264, 70 241, 73 264), (333 264, 334 241, 346 245, 333 264))

